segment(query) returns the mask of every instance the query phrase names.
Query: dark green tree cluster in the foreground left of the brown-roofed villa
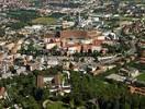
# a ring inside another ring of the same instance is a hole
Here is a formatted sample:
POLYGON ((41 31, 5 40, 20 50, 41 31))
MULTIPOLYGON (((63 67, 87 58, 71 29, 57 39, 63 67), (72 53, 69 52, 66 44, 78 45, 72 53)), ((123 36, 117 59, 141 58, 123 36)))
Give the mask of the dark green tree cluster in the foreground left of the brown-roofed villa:
POLYGON ((36 87, 36 76, 34 74, 3 78, 0 86, 7 87, 8 95, 2 107, 13 107, 14 104, 21 105, 24 109, 41 109, 42 102, 49 97, 47 88, 36 87))

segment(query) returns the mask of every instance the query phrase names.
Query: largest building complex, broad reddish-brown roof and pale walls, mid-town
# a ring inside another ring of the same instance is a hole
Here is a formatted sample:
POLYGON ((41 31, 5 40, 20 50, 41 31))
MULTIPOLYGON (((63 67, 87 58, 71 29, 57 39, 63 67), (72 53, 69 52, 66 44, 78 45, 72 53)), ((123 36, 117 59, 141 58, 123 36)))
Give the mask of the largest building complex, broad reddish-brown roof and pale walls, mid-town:
POLYGON ((104 37, 98 31, 63 31, 60 32, 62 47, 70 53, 101 50, 104 37), (102 37, 102 38, 101 38, 102 37))

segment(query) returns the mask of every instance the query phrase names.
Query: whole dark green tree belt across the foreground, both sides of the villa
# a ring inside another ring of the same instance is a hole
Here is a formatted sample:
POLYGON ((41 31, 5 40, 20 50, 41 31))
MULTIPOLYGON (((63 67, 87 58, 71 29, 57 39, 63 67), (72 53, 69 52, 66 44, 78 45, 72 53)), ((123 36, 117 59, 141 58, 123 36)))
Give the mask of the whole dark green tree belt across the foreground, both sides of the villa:
MULTIPOLYGON (((62 70, 60 66, 56 71, 59 70, 62 70)), ((11 98, 11 100, 5 100, 4 107, 21 104, 24 108, 41 109, 46 99, 62 100, 72 109, 77 107, 87 109, 144 109, 145 107, 145 97, 130 94, 126 85, 105 82, 102 77, 74 71, 70 71, 71 93, 49 98, 47 88, 36 88, 37 74, 38 72, 35 71, 33 74, 1 80, 1 86, 7 87, 11 98)))

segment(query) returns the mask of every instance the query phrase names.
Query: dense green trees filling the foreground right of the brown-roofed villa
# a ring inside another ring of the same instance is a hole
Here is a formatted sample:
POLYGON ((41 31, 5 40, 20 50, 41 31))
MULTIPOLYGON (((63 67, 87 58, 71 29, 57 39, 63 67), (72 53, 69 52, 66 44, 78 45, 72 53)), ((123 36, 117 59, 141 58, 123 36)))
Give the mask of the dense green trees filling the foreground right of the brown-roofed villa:
POLYGON ((74 101, 74 106, 86 106, 88 109, 94 107, 94 109, 143 109, 145 107, 145 97, 130 94, 123 84, 110 84, 88 74, 71 72, 71 86, 69 100, 74 101), (88 105, 90 101, 91 105, 88 105))

